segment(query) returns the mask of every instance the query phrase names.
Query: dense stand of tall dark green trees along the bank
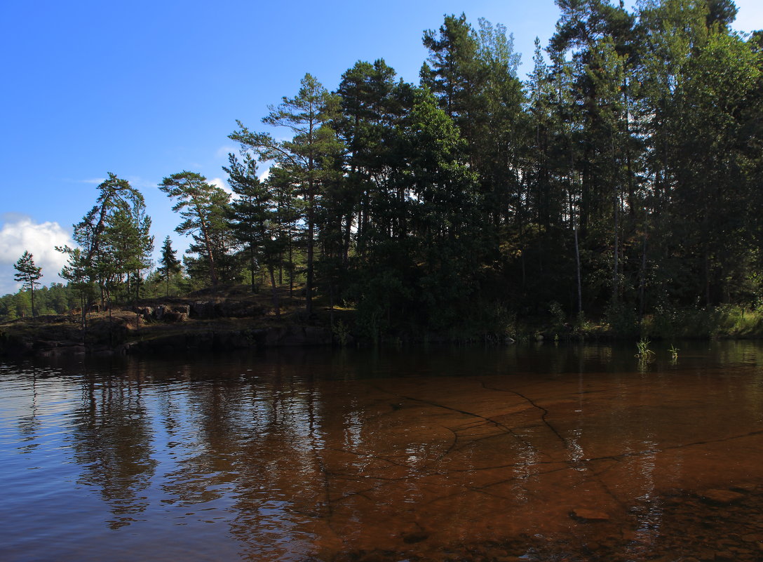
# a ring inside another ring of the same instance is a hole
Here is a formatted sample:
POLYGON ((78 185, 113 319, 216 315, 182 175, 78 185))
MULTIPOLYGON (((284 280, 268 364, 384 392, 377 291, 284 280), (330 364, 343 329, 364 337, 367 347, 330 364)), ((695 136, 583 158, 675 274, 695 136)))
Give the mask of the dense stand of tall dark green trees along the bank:
MULTIPOLYGON (((731 0, 556 3, 526 81, 504 26, 449 15, 419 84, 360 61, 238 121, 232 197, 189 171, 159 185, 192 237, 182 263, 168 237, 153 267, 143 196, 110 174, 37 312, 246 282, 276 315, 286 288, 307 321, 314 299, 353 308, 372 337, 754 314, 763 33, 733 31, 731 0)), ((29 314, 26 293, 0 315, 29 314)))

